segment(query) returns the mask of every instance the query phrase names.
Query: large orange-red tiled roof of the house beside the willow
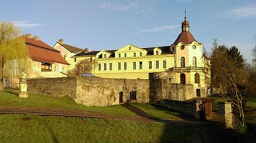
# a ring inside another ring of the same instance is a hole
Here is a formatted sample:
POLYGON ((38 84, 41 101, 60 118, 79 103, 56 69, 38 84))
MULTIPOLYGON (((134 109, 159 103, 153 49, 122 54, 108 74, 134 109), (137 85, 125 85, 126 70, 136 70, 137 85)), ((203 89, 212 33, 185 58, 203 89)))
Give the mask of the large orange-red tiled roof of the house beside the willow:
POLYGON ((28 47, 29 56, 33 61, 40 61, 45 63, 61 63, 69 64, 60 54, 59 50, 53 49, 51 46, 44 43, 44 41, 36 41, 33 38, 24 36, 26 45, 28 47))

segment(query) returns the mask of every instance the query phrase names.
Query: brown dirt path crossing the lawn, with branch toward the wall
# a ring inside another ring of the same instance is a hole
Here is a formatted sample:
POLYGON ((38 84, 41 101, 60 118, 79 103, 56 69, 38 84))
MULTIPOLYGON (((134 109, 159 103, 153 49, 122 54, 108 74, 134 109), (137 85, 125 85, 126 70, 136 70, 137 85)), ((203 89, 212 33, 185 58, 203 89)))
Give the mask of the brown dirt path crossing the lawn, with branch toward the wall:
POLYGON ((15 106, 0 106, 0 114, 34 114, 36 116, 65 116, 65 117, 90 117, 98 119, 116 119, 116 120, 129 120, 138 122, 158 122, 158 123, 170 123, 170 124, 202 124, 207 125, 199 121, 184 121, 184 120, 168 120, 168 119, 155 119, 150 117, 145 112, 134 109, 135 107, 127 106, 129 110, 134 110, 136 114, 142 117, 130 117, 130 116, 114 116, 104 114, 104 112, 91 112, 86 110, 70 110, 70 109, 49 109, 49 108, 37 108, 37 107, 15 107, 15 106), (135 111, 136 110, 136 111, 135 111))

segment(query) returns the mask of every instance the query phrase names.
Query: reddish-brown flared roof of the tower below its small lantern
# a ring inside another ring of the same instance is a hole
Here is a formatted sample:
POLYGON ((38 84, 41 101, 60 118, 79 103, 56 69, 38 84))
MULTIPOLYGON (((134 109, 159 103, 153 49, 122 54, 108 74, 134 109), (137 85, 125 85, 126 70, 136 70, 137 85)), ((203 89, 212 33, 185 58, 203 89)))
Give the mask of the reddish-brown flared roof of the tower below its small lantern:
POLYGON ((192 43, 193 41, 196 41, 196 40, 195 40, 194 36, 189 31, 182 31, 182 33, 179 34, 179 36, 173 42, 173 44, 177 45, 180 42, 189 44, 189 43, 192 43))

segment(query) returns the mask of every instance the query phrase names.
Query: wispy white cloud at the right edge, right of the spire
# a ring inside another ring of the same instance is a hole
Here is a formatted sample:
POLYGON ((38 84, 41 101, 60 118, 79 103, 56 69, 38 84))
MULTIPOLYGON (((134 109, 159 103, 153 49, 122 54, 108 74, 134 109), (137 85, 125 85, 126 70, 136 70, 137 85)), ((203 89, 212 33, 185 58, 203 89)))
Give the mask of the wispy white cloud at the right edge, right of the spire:
POLYGON ((243 18, 243 17, 253 17, 256 16, 256 4, 241 6, 239 8, 235 8, 234 10, 225 11, 225 15, 243 18))

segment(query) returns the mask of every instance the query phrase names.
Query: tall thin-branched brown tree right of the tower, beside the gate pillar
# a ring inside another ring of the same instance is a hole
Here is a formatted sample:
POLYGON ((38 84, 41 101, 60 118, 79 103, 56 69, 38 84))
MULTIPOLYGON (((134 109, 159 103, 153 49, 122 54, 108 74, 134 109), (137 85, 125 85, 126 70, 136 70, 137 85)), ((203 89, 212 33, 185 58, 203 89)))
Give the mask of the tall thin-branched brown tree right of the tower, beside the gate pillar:
MULTIPOLYGON (((211 87, 233 103, 236 116, 235 129, 244 133, 243 96, 246 70, 241 64, 237 65, 241 59, 233 57, 240 52, 237 52, 236 48, 228 49, 225 45, 216 47, 214 44, 211 55, 211 87)), ((241 57, 240 54, 238 56, 241 57)))

